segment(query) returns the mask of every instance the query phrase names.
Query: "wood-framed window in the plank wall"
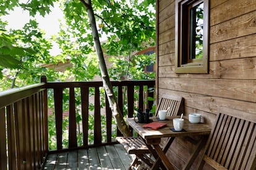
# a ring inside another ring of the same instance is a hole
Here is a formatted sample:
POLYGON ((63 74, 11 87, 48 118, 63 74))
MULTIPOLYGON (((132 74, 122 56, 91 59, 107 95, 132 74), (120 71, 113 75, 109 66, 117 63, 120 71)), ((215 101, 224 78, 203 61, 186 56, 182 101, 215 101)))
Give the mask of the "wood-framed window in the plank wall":
POLYGON ((176 73, 208 73, 208 1, 176 0, 176 73))

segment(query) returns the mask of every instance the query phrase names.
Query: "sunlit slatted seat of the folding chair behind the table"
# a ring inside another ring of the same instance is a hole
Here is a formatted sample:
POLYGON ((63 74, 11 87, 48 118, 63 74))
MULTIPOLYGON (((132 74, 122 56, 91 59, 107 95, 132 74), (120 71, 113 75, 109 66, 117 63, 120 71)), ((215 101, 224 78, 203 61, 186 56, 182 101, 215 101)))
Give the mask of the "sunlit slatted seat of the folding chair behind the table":
POLYGON ((129 154, 150 153, 147 145, 141 137, 116 137, 116 140, 126 149, 129 154))

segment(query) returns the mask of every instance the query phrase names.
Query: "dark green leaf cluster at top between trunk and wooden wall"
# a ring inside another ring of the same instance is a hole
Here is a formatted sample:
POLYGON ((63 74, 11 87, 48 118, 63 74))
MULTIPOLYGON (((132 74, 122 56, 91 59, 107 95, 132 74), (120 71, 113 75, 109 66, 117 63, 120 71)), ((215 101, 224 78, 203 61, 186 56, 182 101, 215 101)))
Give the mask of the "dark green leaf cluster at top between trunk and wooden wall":
MULTIPOLYGON (((108 2, 108 1, 105 1, 108 2)), ((145 44, 155 45, 155 2, 122 1, 108 4, 96 11, 101 33, 108 35, 103 44, 109 55, 129 55, 130 52, 145 48, 145 44), (125 21, 125 22, 124 22, 125 21)))

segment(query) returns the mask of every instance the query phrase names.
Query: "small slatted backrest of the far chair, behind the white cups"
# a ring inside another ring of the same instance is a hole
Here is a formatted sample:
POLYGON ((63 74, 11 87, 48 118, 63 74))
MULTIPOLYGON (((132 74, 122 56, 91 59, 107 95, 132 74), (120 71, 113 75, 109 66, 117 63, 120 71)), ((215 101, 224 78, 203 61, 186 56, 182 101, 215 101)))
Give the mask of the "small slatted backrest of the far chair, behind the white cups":
POLYGON ((168 116, 176 116, 184 111, 184 100, 183 97, 177 95, 164 94, 158 103, 156 108, 156 115, 158 116, 158 110, 168 110, 168 116), (170 108, 169 108, 170 107, 170 108))

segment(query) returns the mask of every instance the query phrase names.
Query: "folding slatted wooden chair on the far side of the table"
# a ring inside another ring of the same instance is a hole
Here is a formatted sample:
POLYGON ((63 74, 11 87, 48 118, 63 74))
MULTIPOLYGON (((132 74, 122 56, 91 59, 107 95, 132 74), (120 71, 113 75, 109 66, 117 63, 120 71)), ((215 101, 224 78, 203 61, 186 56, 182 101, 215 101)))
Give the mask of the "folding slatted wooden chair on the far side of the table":
MULTIPOLYGON (((156 108, 155 116, 158 116, 158 110, 167 110, 167 108, 169 108, 168 116, 176 116, 184 111, 183 107, 184 105, 182 97, 174 95, 163 95, 158 107, 156 108)), ((153 165, 154 161, 148 155, 150 151, 148 150, 145 142, 140 137, 117 137, 116 140, 124 146, 127 153, 136 155, 132 161, 132 164, 130 165, 130 168, 135 166, 135 164, 139 162, 139 159, 148 164, 150 167, 153 165)))

